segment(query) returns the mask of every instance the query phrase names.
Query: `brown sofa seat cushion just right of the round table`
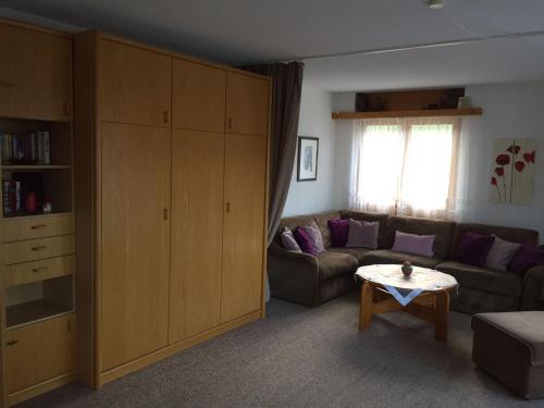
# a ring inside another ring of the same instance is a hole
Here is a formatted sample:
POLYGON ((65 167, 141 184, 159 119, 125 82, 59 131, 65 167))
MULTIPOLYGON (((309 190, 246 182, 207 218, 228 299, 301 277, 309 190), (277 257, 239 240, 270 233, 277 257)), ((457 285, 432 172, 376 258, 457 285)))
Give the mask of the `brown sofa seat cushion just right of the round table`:
POLYGON ((436 270, 453 275, 462 287, 491 292, 505 296, 521 295, 521 279, 511 272, 495 271, 466 263, 447 261, 436 265, 436 270))

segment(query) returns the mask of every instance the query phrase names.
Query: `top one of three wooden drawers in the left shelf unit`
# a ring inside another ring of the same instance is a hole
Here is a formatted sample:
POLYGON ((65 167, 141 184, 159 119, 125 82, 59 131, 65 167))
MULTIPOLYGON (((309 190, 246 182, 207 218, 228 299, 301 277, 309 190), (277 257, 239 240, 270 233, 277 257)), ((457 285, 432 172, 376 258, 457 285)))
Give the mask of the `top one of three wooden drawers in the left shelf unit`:
POLYGON ((35 217, 2 221, 2 243, 74 234, 75 221, 72 214, 35 217))

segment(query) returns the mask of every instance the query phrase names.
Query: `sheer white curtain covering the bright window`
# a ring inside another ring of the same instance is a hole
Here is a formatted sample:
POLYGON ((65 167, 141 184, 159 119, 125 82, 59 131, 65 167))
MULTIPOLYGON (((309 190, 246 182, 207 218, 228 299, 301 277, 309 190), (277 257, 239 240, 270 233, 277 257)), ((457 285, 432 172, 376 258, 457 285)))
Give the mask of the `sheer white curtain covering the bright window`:
POLYGON ((455 219, 460 119, 356 123, 349 208, 455 219))

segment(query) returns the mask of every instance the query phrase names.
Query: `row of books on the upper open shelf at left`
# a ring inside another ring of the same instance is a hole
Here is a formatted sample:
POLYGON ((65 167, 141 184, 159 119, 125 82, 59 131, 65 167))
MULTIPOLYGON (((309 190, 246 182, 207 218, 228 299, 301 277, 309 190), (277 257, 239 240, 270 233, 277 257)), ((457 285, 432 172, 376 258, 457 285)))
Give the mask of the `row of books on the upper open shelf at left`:
POLYGON ((49 132, 8 134, 0 131, 0 149, 3 165, 51 164, 49 132))

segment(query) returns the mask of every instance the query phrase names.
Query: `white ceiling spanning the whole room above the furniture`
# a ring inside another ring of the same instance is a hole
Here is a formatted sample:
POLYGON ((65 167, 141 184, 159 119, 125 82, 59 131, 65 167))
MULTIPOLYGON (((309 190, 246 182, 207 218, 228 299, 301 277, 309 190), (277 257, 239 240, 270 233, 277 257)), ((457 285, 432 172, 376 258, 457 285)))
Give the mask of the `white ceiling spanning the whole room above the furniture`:
POLYGON ((543 0, 0 0, 73 26, 228 64, 302 59, 307 84, 331 91, 544 79, 543 0), (478 41, 381 53, 354 51, 478 41))

